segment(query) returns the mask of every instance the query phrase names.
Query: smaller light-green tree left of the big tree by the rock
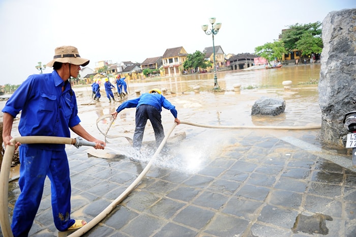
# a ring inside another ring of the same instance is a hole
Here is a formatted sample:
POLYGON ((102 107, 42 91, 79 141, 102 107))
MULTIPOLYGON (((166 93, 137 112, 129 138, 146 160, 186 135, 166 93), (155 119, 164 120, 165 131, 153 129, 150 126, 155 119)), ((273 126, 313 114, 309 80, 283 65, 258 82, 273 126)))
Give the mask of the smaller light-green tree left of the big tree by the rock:
POLYGON ((264 45, 255 48, 255 54, 265 58, 270 65, 276 58, 277 60, 281 60, 284 53, 286 53, 286 50, 283 46, 283 42, 279 40, 276 40, 273 43, 265 43, 264 45))

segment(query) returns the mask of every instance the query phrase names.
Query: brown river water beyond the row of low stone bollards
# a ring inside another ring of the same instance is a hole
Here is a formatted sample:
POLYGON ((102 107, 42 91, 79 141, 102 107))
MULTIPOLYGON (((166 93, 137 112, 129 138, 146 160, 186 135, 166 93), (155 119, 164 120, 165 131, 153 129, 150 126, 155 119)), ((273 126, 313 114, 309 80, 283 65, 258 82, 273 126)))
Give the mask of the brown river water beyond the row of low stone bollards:
MULTIPOLYGON (((312 80, 318 80, 320 64, 287 66, 278 69, 259 69, 246 71, 218 72, 218 84, 222 90, 233 90, 234 84, 246 88, 283 88, 282 82, 291 80, 293 87, 304 87, 312 80)), ((152 87, 167 88, 170 92, 191 92, 196 85, 201 91, 211 91, 214 85, 214 74, 194 74, 163 79, 145 79, 129 82, 131 93, 134 90, 149 91, 152 87)), ((316 86, 316 84, 311 85, 316 86)))

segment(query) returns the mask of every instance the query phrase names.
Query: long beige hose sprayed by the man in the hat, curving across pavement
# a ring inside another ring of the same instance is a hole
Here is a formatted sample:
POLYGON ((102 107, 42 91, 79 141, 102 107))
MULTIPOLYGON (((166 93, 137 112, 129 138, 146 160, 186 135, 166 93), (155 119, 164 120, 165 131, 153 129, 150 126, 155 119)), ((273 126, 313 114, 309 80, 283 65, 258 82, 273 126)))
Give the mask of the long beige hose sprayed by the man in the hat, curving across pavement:
MULTIPOLYGON (((111 115, 104 115, 102 117, 111 117, 111 115)), ((97 121, 98 123, 98 121, 97 121)), ((208 126, 208 125, 201 125, 201 124, 195 124, 195 123, 190 123, 190 122, 184 122, 181 121, 181 124, 186 124, 186 125, 191 125, 191 126, 196 126, 196 127, 204 127, 204 128, 219 128, 219 129, 280 129, 280 130, 308 130, 308 129, 320 129, 321 126, 296 126, 296 127, 278 127, 278 126, 208 126)), ((110 123, 110 127, 112 125, 112 122, 110 123)), ((169 132, 166 134, 164 137, 163 141, 159 145, 156 153, 153 155, 151 158, 150 162, 146 165, 146 167, 142 170, 142 172, 137 176, 135 181, 120 195, 118 196, 111 204, 107 206, 106 209, 104 209, 98 216, 96 216, 93 220, 88 222, 86 225, 84 225, 82 228, 76 230, 74 233, 68 235, 68 237, 75 237, 75 236, 81 236, 82 234, 86 233, 88 230, 93 228, 95 225, 97 225, 101 220, 103 220, 118 204, 120 204, 121 201, 123 201, 129 193, 136 187, 136 185, 141 182, 142 178, 144 175, 149 171, 151 168, 153 162, 157 158, 158 154, 161 152, 163 146, 167 142, 167 139, 169 138, 170 134, 172 133, 173 129, 175 128, 176 123, 172 126, 172 128, 169 130, 169 132)), ((97 126, 98 127, 98 126, 97 126)), ((110 128, 109 127, 109 128, 110 128)), ((99 129, 99 127, 98 127, 99 129)), ((100 129, 99 129, 100 130, 100 129)), ((103 133, 101 130, 100 132, 102 134, 106 134, 108 132, 108 129, 106 130, 106 133, 103 133)), ((110 138, 115 138, 115 137, 123 137, 123 136, 110 136, 110 138)), ((86 144, 85 142, 82 142, 84 144, 77 144, 78 139, 73 138, 66 138, 66 137, 47 137, 47 136, 28 136, 28 137, 17 137, 13 138, 11 142, 15 144, 16 142, 20 143, 57 143, 57 144, 73 144, 76 147, 80 145, 91 145, 90 142, 89 144, 86 144)), ((15 152, 15 145, 7 145, 7 148, 5 150, 5 154, 3 157, 3 162, 0 170, 0 226, 3 232, 3 235, 5 237, 13 237, 11 227, 10 227, 10 220, 9 220, 9 215, 8 215, 8 191, 9 191, 9 174, 10 174, 10 167, 11 167, 11 161, 13 154, 15 152)))

